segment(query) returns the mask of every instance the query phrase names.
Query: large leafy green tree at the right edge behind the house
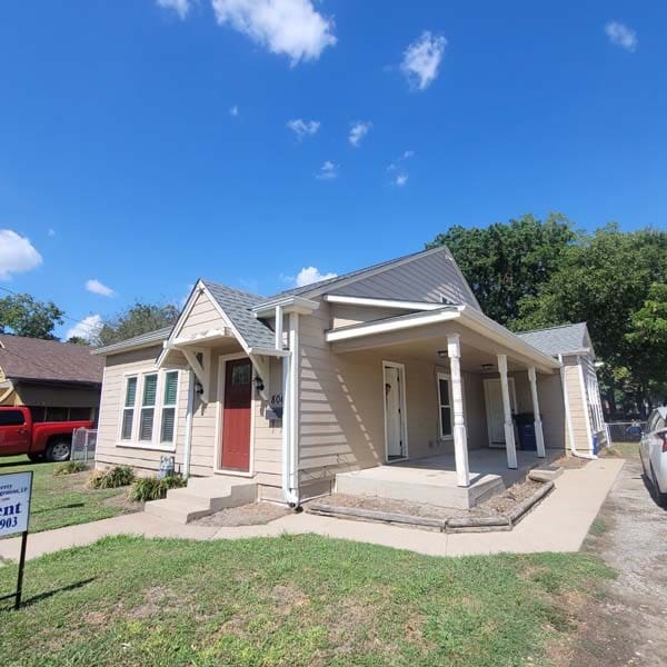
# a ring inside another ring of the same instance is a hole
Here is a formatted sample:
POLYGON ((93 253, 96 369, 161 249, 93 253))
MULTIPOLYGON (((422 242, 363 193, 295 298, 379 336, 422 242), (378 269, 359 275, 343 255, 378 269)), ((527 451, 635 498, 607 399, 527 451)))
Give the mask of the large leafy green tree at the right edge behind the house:
MULTIPOLYGON (((647 320, 636 318, 638 311, 653 308, 646 306, 651 286, 667 282, 666 257, 665 231, 621 232, 616 225, 598 229, 566 250, 559 269, 537 295, 520 300, 514 327, 587 321, 595 350, 605 361, 601 378, 610 404, 621 398, 618 390, 633 392, 639 409, 650 399, 651 386, 660 382, 664 367, 646 366, 646 339, 639 342, 637 327, 647 320)), ((654 296, 660 297, 656 289, 654 296)))

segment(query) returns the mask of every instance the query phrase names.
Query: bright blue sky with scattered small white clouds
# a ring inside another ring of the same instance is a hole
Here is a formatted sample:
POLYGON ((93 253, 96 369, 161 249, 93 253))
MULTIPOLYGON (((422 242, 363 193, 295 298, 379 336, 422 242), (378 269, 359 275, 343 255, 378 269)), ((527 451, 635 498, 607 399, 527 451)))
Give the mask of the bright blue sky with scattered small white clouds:
POLYGON ((64 336, 200 276, 269 295, 454 223, 665 227, 661 4, 6 3, 0 288, 54 300, 64 336))

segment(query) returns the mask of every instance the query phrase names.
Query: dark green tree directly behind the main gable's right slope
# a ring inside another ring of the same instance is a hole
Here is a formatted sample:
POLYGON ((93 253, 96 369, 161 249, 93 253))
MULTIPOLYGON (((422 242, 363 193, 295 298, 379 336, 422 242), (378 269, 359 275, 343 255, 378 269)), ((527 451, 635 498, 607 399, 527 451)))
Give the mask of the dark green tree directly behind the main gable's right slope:
POLYGON ((565 216, 549 213, 542 221, 527 215, 487 228, 454 226, 427 248, 446 245, 484 312, 511 326, 519 317, 519 301, 537 293, 576 240, 577 232, 565 216))

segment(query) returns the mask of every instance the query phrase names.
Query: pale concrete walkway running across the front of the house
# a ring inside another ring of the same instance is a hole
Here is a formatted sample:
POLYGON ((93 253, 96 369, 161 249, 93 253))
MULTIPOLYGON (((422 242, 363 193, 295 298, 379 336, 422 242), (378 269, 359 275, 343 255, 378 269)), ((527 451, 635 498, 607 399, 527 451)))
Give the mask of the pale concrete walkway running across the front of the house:
MULTIPOLYGON (((623 468, 619 459, 598 459, 579 469, 565 470, 556 489, 514 530, 446 535, 384 524, 370 524, 293 514, 266 526, 216 528, 181 526, 145 512, 102 521, 36 532, 28 538, 28 558, 68 547, 89 545, 110 535, 180 537, 186 539, 239 539, 275 537, 283 532, 315 532, 341 539, 410 549, 431 556, 465 556, 508 551, 578 551, 611 485, 623 468)), ((20 540, 0 540, 0 558, 18 559, 20 540)))

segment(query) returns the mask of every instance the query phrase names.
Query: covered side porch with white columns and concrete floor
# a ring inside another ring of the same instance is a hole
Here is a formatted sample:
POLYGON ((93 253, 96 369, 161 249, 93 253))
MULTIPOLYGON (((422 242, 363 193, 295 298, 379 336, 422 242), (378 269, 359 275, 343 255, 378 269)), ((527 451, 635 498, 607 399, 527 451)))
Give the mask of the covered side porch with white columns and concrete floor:
POLYGON ((375 468, 339 472, 338 492, 469 508, 548 458, 539 405, 558 362, 479 311, 442 307, 327 332, 331 349, 382 368, 385 452, 375 468), (521 450, 517 389, 534 451, 521 450))

